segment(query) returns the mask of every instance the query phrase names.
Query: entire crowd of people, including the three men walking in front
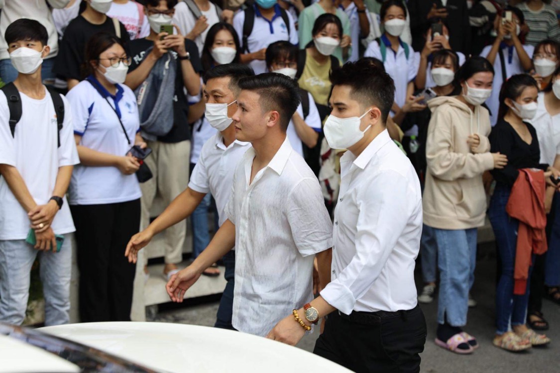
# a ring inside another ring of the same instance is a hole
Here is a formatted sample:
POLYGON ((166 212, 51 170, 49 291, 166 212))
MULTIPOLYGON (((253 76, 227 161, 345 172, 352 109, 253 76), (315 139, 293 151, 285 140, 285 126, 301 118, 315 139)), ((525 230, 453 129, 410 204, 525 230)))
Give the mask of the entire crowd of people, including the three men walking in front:
POLYGON ((38 259, 45 324, 69 322, 72 233, 81 321, 130 320, 163 233, 171 300, 225 265, 216 327, 295 344, 328 315, 318 355, 418 371, 436 292, 436 344, 479 347, 489 219, 493 343, 549 343, 559 25, 543 0, 0 0, 0 320, 38 259))

